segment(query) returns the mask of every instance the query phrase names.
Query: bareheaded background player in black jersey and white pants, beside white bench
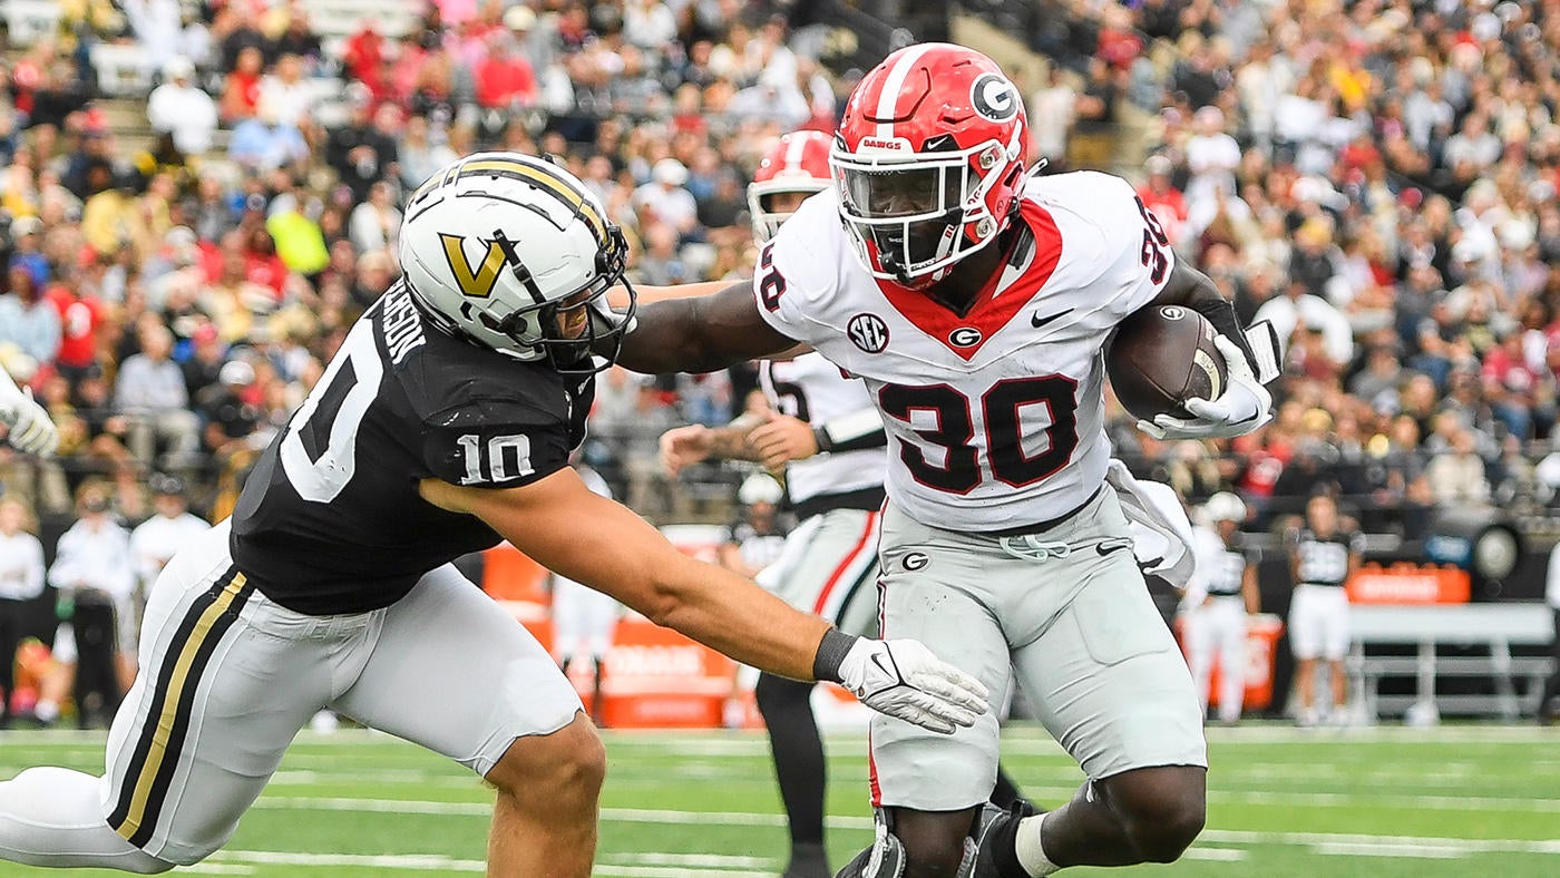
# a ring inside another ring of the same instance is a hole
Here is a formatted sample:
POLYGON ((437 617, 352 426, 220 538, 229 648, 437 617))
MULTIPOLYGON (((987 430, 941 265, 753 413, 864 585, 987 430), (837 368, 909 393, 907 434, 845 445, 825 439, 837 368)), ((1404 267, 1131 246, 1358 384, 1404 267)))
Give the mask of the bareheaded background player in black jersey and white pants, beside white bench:
POLYGON ((1338 504, 1332 494, 1306 501, 1306 524, 1290 535, 1289 569, 1295 594, 1289 602, 1289 646, 1295 653, 1295 696, 1299 699, 1299 725, 1315 725, 1317 660, 1328 663, 1332 682, 1332 710, 1328 717, 1345 724, 1348 675, 1343 653, 1349 649, 1349 596, 1343 589, 1360 566, 1359 533, 1345 533, 1338 524, 1338 504))

